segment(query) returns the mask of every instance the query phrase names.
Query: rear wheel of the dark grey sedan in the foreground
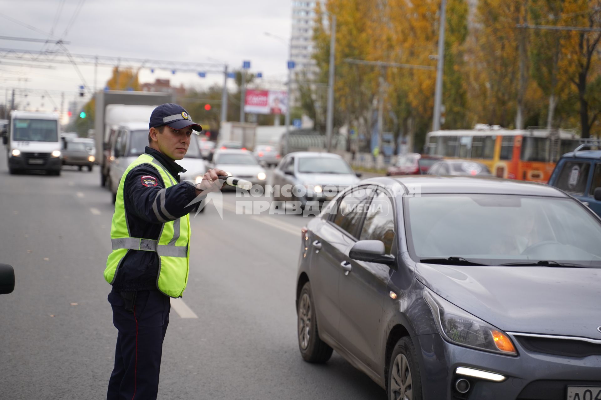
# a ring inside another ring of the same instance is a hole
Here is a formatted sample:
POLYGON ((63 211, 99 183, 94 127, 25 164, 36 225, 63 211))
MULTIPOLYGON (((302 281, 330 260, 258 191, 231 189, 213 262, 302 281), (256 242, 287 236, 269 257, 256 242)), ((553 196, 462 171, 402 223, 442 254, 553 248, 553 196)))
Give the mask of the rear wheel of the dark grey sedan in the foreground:
POLYGON ((310 363, 325 363, 332 357, 332 348, 319 337, 317 318, 310 282, 302 287, 296 310, 296 332, 302 358, 310 363))

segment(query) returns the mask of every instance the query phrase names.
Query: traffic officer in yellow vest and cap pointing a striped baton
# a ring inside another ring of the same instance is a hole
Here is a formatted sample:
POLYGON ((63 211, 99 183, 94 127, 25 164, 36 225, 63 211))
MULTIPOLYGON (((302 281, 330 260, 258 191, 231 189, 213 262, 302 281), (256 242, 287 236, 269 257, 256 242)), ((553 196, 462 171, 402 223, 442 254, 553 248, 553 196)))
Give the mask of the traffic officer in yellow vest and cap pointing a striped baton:
POLYGON ((162 104, 150 116, 148 146, 121 177, 111 225, 112 252, 104 276, 118 330, 106 398, 156 399, 170 297, 188 282, 190 217, 204 193, 221 189, 210 169, 196 186, 181 182, 175 163, 188 151, 192 122, 182 106, 162 104))

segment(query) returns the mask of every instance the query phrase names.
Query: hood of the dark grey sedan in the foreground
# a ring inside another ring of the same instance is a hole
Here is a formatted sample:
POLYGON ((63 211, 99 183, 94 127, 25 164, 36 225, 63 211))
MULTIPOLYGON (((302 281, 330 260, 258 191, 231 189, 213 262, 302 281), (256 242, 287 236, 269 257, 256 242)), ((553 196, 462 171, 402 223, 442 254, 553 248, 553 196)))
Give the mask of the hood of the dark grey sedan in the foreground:
POLYGON ((601 339, 601 269, 419 263, 419 281, 506 332, 601 339))

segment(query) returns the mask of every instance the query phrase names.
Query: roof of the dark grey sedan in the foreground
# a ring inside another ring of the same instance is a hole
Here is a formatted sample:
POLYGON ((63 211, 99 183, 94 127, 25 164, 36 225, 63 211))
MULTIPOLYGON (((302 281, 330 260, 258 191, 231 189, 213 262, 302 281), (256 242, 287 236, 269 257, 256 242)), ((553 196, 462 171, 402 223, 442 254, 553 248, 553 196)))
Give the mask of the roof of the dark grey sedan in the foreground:
POLYGON ((404 193, 419 194, 514 194, 522 196, 569 197, 563 191, 538 182, 514 179, 489 178, 486 176, 434 176, 403 175, 370 178, 362 184, 378 184, 394 187, 398 185, 404 193))

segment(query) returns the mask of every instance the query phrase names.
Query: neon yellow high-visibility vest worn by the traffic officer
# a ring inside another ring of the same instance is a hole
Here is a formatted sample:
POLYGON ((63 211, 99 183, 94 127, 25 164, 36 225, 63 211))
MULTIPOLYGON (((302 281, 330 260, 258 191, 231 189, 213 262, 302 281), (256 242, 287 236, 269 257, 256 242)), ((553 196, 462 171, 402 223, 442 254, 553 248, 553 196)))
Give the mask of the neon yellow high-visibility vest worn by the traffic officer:
POLYGON ((105 279, 109 283, 115 281, 118 269, 123 258, 129 250, 156 251, 159 255, 159 273, 157 275, 157 288, 162 293, 171 297, 181 297, 188 283, 189 271, 189 241, 190 241, 190 217, 175 218, 165 209, 165 191, 177 184, 175 179, 165 168, 151 155, 142 154, 138 157, 121 177, 115 201, 115 213, 111 224, 112 252, 106 260, 105 279), (125 205, 123 199, 123 187, 127 174, 140 164, 148 164, 157 170, 165 188, 160 190, 153 202, 153 212, 160 222, 163 222, 159 240, 131 237, 125 205), (159 212, 160 210, 160 212, 159 212), (165 217, 167 219, 165 219, 165 217))

